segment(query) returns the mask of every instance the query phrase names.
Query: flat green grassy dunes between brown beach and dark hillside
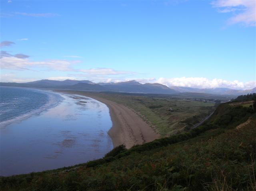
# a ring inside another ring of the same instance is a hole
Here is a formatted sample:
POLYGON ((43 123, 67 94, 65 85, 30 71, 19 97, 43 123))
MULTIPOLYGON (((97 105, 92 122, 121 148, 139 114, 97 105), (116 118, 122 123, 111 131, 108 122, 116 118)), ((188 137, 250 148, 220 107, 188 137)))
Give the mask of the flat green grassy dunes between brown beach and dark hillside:
MULTIPOLYGON (((79 93, 79 91, 70 91, 79 93)), ((85 93, 83 91, 83 93, 85 93)), ((170 136, 199 123, 214 110, 214 103, 172 98, 170 96, 143 96, 120 93, 92 93, 86 95, 98 96, 132 108, 145 121, 152 125, 161 136, 170 136), (170 108, 173 112, 170 112, 170 108)))

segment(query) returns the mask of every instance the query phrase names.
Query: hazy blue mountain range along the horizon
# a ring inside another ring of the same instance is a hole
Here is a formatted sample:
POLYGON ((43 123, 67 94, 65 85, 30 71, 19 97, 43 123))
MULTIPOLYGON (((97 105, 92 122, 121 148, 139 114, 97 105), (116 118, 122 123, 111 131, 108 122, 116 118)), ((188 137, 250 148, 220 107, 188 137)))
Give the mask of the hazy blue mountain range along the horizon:
POLYGON ((156 93, 156 94, 178 94, 178 93, 206 93, 216 95, 242 95, 248 93, 256 93, 256 87, 249 90, 234 90, 228 88, 211 88, 199 89, 191 87, 167 87, 159 83, 141 84, 135 80, 118 82, 118 83, 94 83, 88 80, 39 80, 27 83, 4 83, 0 86, 11 87, 34 87, 46 89, 68 89, 68 90, 84 90, 84 91, 113 91, 127 93, 156 93))

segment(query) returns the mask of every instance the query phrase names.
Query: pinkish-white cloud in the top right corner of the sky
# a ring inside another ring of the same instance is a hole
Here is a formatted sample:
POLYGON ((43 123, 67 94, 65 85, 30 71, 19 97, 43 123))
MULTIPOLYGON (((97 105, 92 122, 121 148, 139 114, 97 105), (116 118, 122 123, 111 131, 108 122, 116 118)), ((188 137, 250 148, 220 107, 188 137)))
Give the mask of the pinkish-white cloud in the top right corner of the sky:
POLYGON ((246 26, 256 25, 256 1, 255 0, 216 0, 212 2, 218 12, 233 12, 229 24, 243 23, 246 26))

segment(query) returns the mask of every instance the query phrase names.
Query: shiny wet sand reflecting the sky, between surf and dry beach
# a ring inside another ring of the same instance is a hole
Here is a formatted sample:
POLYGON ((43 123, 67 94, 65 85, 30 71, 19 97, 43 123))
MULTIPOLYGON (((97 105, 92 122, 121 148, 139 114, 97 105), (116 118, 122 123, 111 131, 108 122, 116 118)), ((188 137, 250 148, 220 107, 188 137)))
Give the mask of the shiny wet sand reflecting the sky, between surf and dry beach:
POLYGON ((2 131, 5 159, 0 175, 84 163, 113 148, 107 134, 112 127, 108 107, 85 96, 61 96, 64 101, 58 106, 2 131))

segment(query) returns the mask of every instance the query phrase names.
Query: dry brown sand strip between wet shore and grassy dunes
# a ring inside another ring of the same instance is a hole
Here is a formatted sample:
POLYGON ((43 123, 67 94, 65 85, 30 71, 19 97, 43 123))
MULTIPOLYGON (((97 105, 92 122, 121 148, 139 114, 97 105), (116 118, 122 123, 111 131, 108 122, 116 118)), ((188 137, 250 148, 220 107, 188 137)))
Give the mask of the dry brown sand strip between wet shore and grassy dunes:
POLYGON ((126 148, 131 148, 136 144, 144 144, 160 138, 154 129, 150 127, 132 109, 116 102, 86 94, 78 91, 58 91, 62 93, 83 95, 94 98, 106 104, 110 110, 112 128, 108 131, 112 138, 114 147, 124 144, 126 148))

